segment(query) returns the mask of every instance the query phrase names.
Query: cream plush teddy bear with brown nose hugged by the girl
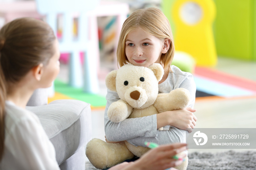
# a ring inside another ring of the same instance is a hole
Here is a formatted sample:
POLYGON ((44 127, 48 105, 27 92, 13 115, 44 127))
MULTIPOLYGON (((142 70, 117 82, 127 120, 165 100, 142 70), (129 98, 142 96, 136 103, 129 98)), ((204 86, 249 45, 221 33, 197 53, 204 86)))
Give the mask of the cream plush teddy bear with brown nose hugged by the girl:
MULTIPOLYGON (((116 91, 120 100, 110 104, 109 120, 118 123, 127 118, 186 108, 190 96, 187 89, 178 88, 158 94, 158 82, 163 74, 163 67, 158 63, 148 67, 127 64, 110 72, 106 76, 106 86, 116 91)), ((86 156, 96 168, 105 169, 126 159, 141 157, 148 150, 148 147, 136 147, 127 141, 107 143, 94 138, 87 143, 86 156)), ((180 169, 186 167, 187 162, 180 169)))

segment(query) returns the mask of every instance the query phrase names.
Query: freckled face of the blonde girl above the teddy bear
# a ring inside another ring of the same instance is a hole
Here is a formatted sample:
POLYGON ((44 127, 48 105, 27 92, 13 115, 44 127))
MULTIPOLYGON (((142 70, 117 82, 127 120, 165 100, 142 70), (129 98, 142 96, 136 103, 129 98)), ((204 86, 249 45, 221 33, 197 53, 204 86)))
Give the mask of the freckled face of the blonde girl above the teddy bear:
POLYGON ((133 65, 148 67, 160 63, 162 53, 167 52, 164 45, 164 40, 136 28, 127 35, 125 54, 133 65))

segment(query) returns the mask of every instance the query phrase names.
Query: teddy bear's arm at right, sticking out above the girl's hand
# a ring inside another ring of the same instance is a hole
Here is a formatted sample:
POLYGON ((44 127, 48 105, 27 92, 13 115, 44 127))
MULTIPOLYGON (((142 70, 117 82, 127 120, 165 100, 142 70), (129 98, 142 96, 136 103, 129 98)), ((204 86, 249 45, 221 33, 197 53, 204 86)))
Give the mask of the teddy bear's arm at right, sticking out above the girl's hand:
POLYGON ((172 111, 176 109, 184 109, 189 103, 189 91, 184 88, 172 90, 170 93, 158 94, 154 103, 158 113, 172 111))

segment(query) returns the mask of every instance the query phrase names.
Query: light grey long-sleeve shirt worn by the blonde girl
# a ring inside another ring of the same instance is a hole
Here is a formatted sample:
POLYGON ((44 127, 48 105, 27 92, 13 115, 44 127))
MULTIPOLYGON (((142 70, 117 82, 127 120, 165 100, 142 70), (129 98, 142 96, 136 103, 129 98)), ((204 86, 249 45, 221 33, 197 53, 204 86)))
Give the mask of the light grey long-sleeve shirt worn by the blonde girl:
MULTIPOLYGON (((190 93, 190 103, 188 107, 193 108, 195 104, 196 85, 191 73, 182 72, 178 67, 171 66, 172 72, 167 79, 158 85, 159 93, 169 93, 177 88, 185 88, 190 93)), ((106 95, 106 109, 104 115, 105 134, 109 141, 124 141, 135 146, 144 146, 144 142, 154 142, 157 144, 169 144, 186 141, 188 131, 176 127, 157 130, 157 115, 125 119, 119 123, 114 123, 108 119, 108 108, 111 103, 119 100, 117 92, 110 91, 106 95)))

